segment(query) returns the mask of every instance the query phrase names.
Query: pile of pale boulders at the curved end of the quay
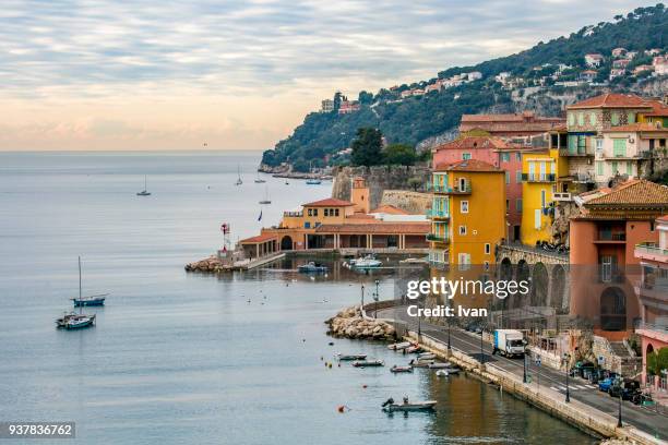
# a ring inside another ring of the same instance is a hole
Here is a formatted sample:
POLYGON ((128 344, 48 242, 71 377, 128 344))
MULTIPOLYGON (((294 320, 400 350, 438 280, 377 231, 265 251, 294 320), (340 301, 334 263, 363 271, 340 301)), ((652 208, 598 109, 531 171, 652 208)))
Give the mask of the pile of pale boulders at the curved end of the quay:
POLYGON ((359 305, 342 310, 325 324, 330 326, 327 334, 338 338, 394 340, 396 334, 386 322, 362 317, 359 305))

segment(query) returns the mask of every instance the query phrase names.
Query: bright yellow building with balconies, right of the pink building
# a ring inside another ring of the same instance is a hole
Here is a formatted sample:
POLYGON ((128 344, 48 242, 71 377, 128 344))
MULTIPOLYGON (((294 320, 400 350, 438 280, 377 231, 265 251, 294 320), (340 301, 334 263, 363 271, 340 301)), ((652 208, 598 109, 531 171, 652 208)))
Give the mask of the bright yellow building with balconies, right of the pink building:
POLYGON ((551 241, 554 194, 563 187, 560 176, 568 176, 569 163, 559 149, 527 152, 522 155, 522 228, 523 244, 551 241))

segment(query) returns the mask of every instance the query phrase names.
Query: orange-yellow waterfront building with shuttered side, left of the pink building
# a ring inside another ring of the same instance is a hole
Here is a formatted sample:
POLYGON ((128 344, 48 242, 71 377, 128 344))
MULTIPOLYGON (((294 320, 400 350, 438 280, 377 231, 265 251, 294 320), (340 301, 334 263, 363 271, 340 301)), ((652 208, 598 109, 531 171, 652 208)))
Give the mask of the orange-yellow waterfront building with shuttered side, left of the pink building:
POLYGON ((432 175, 430 261, 434 265, 496 262, 505 236, 505 173, 477 159, 437 166, 432 175))

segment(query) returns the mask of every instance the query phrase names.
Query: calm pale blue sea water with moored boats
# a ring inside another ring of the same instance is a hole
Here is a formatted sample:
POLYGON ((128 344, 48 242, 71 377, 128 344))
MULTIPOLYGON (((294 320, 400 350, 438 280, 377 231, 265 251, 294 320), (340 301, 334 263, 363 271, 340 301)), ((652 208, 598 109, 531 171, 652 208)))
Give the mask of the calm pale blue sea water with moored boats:
MULTIPOLYGON (((357 302, 357 275, 310 279, 293 261, 223 278, 186 274, 186 262, 220 245, 220 222, 243 238, 329 195, 329 183, 267 177, 273 204, 258 221, 259 156, 0 153, 0 420, 75 421, 74 442, 86 444, 592 442, 464 376, 325 369, 321 357, 336 351, 404 361, 383 345, 327 345, 322 322, 357 302), (144 175, 153 195, 138 197, 144 175), (84 292, 111 296, 94 310, 96 327, 59 332, 77 255, 84 292), (380 411, 403 395, 440 409, 380 411), (337 413, 339 405, 351 410, 337 413)), ((382 294, 391 274, 380 275, 382 294)))

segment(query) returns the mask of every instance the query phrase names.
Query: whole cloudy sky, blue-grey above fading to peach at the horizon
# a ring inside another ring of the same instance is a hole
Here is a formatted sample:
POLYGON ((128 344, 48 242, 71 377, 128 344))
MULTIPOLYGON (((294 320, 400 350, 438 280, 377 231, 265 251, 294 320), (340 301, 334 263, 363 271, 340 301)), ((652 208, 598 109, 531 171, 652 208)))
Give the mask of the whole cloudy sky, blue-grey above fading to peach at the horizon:
POLYGON ((2 0, 0 151, 271 148, 336 89, 429 80, 654 3, 2 0))

